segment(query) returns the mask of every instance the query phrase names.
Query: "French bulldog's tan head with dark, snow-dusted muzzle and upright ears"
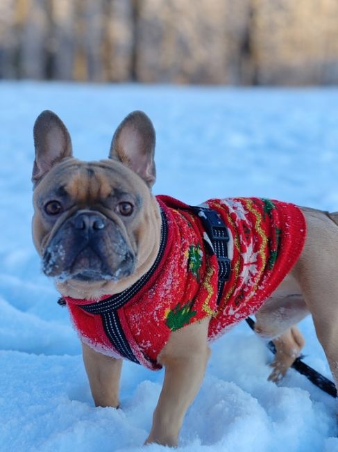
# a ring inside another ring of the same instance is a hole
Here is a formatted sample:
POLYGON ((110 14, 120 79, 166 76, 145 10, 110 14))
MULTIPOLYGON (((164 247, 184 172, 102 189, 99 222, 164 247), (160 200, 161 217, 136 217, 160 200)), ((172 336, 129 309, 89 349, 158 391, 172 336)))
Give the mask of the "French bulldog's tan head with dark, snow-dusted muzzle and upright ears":
POLYGON ((158 242, 153 124, 140 111, 130 113, 109 159, 84 162, 73 158, 65 124, 44 111, 34 143, 33 240, 44 273, 66 295, 67 287, 85 291, 88 284, 114 293, 151 265, 158 242))

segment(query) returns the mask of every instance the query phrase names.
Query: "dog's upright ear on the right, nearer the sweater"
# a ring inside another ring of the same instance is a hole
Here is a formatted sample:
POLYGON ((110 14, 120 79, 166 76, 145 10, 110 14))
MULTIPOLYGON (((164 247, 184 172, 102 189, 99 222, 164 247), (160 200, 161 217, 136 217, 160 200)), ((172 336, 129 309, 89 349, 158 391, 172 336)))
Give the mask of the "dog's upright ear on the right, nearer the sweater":
POLYGON ((155 182, 155 129, 143 111, 133 111, 119 124, 110 146, 110 159, 118 159, 151 187, 155 182))

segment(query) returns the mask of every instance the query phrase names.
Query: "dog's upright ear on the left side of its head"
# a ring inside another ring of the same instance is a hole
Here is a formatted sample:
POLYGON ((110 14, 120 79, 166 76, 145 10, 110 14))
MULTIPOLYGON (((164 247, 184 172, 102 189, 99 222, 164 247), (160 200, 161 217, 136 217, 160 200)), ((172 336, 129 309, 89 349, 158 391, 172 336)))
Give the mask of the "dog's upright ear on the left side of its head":
POLYGON ((71 157, 71 139, 67 127, 53 111, 45 110, 37 117, 33 129, 35 161, 34 186, 62 159, 71 157))

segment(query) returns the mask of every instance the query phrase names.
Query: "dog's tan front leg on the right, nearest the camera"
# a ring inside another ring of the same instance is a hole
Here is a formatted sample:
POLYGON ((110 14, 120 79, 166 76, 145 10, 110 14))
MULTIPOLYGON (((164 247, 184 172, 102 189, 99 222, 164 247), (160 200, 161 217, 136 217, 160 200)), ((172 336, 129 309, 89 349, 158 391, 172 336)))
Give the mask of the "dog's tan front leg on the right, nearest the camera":
POLYGON ((158 362, 165 366, 164 383, 146 443, 177 446, 187 408, 201 386, 210 356, 209 319, 173 332, 158 362))

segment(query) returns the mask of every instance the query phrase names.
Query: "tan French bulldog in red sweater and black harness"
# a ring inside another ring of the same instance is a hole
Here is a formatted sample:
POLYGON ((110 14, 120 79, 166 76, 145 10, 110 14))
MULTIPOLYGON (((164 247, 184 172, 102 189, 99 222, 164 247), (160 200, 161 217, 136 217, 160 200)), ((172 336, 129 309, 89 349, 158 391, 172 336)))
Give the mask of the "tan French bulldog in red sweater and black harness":
POLYGON ((38 116, 34 143, 33 241, 81 338, 96 406, 119 407, 122 358, 164 366, 146 443, 177 446, 208 342, 253 313, 255 332, 276 345, 271 380, 300 354, 296 323, 309 313, 337 380, 337 213, 153 196, 155 131, 140 111, 121 122, 105 160, 74 159, 51 111, 38 116))

